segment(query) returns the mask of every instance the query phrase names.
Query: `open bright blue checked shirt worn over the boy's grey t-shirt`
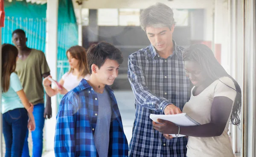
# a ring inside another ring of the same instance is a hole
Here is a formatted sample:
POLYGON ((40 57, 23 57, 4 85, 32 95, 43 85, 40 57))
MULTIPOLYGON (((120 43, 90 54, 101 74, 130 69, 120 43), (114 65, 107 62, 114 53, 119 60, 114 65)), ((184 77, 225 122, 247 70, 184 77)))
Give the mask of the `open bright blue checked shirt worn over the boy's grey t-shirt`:
MULTIPOLYGON (((105 88, 112 102, 108 157, 128 157, 128 142, 116 98, 110 87, 105 88)), ((97 94, 84 79, 62 98, 55 128, 56 157, 99 157, 93 138, 98 114, 97 99, 97 94)))

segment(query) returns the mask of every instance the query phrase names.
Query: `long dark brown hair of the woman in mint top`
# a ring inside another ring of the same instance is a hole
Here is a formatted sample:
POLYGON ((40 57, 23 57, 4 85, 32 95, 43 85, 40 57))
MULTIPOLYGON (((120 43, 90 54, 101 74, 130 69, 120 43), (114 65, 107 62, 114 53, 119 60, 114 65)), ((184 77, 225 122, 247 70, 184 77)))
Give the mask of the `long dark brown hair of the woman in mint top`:
POLYGON ((18 50, 11 44, 2 45, 2 88, 7 92, 10 87, 10 76, 16 68, 18 50))

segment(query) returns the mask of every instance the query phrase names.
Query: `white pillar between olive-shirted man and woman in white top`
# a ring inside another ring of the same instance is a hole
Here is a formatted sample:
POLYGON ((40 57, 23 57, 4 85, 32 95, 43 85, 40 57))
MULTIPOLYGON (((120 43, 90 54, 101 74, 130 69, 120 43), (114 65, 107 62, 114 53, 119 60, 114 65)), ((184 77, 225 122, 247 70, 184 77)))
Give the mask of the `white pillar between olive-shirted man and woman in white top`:
MULTIPOLYGON (((58 0, 47 1, 46 22, 46 59, 51 70, 52 79, 57 79, 58 52, 58 0)), ((45 121, 46 150, 54 148, 54 135, 57 115, 57 97, 52 97, 52 118, 45 121)))

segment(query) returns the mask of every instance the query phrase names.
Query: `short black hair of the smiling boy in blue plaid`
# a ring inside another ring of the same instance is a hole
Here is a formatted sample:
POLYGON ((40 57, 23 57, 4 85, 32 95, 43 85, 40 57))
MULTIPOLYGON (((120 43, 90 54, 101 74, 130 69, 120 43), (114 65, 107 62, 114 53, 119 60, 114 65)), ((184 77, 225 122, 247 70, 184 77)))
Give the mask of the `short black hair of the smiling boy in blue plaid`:
POLYGON ((124 60, 121 51, 110 43, 100 42, 90 46, 87 50, 87 62, 90 73, 92 73, 91 66, 93 64, 100 68, 106 59, 116 60, 119 64, 122 64, 124 60))

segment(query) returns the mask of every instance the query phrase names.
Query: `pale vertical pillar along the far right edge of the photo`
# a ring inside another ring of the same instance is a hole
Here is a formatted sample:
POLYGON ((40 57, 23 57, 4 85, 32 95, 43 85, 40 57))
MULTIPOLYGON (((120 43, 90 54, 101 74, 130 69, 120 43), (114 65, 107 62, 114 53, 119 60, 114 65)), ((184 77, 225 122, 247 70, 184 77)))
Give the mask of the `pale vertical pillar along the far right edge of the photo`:
POLYGON ((256 2, 244 1, 242 157, 256 156, 256 2))

